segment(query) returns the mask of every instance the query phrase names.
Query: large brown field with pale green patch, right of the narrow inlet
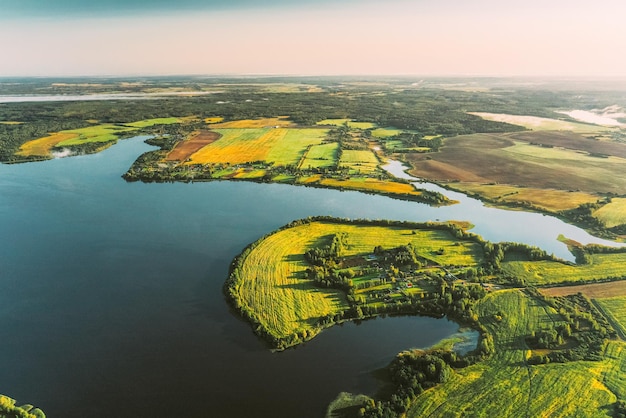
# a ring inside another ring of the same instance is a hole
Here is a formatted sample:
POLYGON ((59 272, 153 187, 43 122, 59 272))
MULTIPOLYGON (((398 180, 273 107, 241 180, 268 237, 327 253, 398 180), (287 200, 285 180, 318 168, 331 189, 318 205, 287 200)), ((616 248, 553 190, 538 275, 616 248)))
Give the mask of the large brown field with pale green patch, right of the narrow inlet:
MULTIPOLYGON (((618 145, 626 150, 626 144, 618 145)), ((520 144, 505 135, 448 138, 439 152, 407 154, 407 160, 413 167, 410 174, 441 182, 499 183, 586 193, 619 194, 626 189, 626 177, 621 175, 626 159, 520 144)))

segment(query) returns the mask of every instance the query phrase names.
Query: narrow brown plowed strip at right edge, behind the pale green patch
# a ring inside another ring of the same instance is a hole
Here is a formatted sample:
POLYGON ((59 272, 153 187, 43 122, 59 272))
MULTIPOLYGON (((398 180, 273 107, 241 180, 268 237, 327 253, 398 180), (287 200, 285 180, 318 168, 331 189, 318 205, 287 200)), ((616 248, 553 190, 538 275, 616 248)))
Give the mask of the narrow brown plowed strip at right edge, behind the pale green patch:
POLYGON ((550 145, 566 149, 585 151, 589 154, 612 155, 626 158, 626 144, 612 141, 598 141, 574 132, 538 131, 517 132, 510 138, 534 144, 550 145))

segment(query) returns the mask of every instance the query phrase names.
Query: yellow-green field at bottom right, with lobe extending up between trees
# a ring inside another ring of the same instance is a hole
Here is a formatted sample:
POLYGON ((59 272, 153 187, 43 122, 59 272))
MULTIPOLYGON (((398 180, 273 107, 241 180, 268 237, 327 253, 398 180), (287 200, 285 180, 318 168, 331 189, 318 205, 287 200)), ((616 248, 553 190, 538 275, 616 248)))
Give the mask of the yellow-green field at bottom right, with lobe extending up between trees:
POLYGON ((615 360, 529 366, 525 337, 542 323, 558 322, 558 314, 519 290, 494 292, 478 308, 479 320, 494 337, 495 354, 458 369, 448 382, 425 391, 408 417, 611 416, 609 406, 616 397, 604 385, 602 374, 615 367, 615 360), (496 314, 501 321, 493 319, 496 314))

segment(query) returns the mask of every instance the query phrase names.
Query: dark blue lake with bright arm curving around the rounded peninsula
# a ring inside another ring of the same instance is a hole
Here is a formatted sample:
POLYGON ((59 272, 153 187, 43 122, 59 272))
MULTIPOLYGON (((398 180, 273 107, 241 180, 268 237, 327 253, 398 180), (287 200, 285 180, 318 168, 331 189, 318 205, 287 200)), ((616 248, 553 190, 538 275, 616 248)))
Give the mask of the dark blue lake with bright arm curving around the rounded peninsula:
POLYGON ((340 391, 374 393, 372 372, 396 353, 458 330, 383 318, 270 352, 222 285, 247 244, 294 219, 467 219, 487 239, 557 254, 558 233, 582 233, 471 200, 432 208, 280 184, 126 183, 121 174, 150 149, 142 139, 0 165, 0 393, 50 417, 319 417, 340 391))

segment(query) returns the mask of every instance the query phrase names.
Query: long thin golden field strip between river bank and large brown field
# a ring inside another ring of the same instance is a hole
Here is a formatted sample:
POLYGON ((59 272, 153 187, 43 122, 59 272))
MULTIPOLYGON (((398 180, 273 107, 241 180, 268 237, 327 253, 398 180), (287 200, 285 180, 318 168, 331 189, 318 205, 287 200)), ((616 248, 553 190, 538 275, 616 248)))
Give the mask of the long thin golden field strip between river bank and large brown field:
POLYGON ((469 194, 478 194, 496 202, 530 202, 549 211, 574 209, 583 203, 594 203, 598 196, 591 193, 535 189, 506 184, 449 183, 449 187, 469 194))

